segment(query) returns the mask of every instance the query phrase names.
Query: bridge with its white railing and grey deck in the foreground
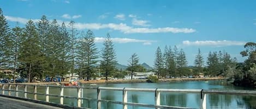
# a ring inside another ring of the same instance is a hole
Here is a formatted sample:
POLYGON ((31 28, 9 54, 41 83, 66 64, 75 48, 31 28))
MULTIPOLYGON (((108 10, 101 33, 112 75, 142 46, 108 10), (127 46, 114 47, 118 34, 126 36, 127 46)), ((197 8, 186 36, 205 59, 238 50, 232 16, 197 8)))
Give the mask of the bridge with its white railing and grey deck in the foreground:
MULTIPOLYGON (((50 106, 46 108, 88 108, 82 107, 81 102, 82 100, 90 100, 97 102, 97 109, 101 109, 102 102, 109 102, 112 104, 120 104, 123 105, 123 109, 127 109, 128 105, 130 106, 140 106, 140 107, 151 107, 151 108, 189 108, 189 107, 177 107, 177 106, 166 106, 160 104, 160 94, 161 93, 194 93, 200 95, 200 109, 206 109, 206 95, 207 94, 229 94, 229 95, 249 95, 249 96, 256 96, 256 91, 244 91, 244 90, 218 90, 218 89, 165 89, 165 88, 113 88, 113 87, 82 87, 82 86, 57 86, 57 85, 32 85, 32 84, 0 84, 0 96, 1 98, 12 98, 26 101, 34 102, 37 104, 43 104, 44 106, 50 106), (28 91, 28 87, 32 87, 32 91, 28 91), (39 93, 37 91, 38 87, 44 87, 45 91, 43 93, 39 93), (58 94, 50 94, 50 87, 58 88, 60 93, 58 94), (64 95, 64 88, 75 88, 76 95, 64 95), (97 99, 93 98, 85 98, 83 97, 83 89, 92 89, 97 94, 97 99), (114 101, 114 100, 105 100, 102 99, 101 93, 102 91, 121 91, 122 92, 122 101, 114 101), (2 92, 2 93, 1 93, 2 92), (154 93, 154 105, 152 104, 141 104, 136 102, 128 102, 127 92, 153 92, 154 93), (19 95, 22 93, 22 96, 19 95), (28 98, 27 94, 33 94, 32 98, 28 98), (37 95, 43 95, 45 100, 38 100, 37 95), (59 103, 49 102, 49 97, 57 97, 59 98, 59 103), (75 99, 77 101, 76 106, 69 106, 63 103, 63 99, 75 99)), ((8 101, 8 100, 7 100, 8 101)), ((17 102, 21 102, 17 101, 17 102)), ((9 101, 8 101, 9 102, 9 101)), ((10 102, 14 102, 11 101, 10 102)), ((1 101, 0 101, 1 104, 1 101)), ((2 104, 4 104, 2 102, 2 104)), ((31 103, 32 104, 32 103, 31 103)), ((16 103, 15 103, 16 105, 16 103)), ((32 104, 33 105, 33 104, 32 104)), ((7 105, 5 105, 7 106, 7 105)), ((19 106, 19 103, 17 103, 19 106)), ((36 108, 36 107, 35 107, 36 108)))

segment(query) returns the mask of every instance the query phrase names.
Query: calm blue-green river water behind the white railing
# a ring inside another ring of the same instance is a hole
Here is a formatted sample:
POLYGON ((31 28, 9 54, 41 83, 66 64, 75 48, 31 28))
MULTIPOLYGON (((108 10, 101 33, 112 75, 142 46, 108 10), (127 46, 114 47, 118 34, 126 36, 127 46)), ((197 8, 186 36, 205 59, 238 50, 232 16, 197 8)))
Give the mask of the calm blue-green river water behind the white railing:
MULTIPOLYGON (((83 85, 88 86, 88 85, 83 85)), ((99 84, 95 87, 129 87, 129 88, 176 88, 176 89, 240 89, 240 90, 256 90, 252 88, 235 87, 226 85, 222 81, 186 81, 186 82, 162 82, 162 83, 133 83, 133 84, 99 84)), ((33 88, 28 87, 28 91, 33 88)), ((43 93, 44 87, 38 87, 38 92, 43 93)), ((50 87, 50 94, 59 95, 59 88, 50 87)), ((86 98, 97 98, 96 89, 84 89, 83 96, 86 98)), ((64 95, 76 96, 76 88, 64 89, 64 95)), ((20 94, 20 96, 22 96, 20 94)), ((32 94, 28 94, 29 98, 33 98, 32 94)), ((38 95, 39 100, 45 100, 45 97, 38 95)), ((122 101, 122 91, 102 91, 102 99, 122 101)), ((59 98, 50 97, 50 102, 59 103, 59 98)), ((154 92, 132 92, 128 91, 128 102, 138 102, 143 104, 154 104, 154 92)), ((76 100, 65 99, 64 104, 76 106, 76 100)), ((200 107, 200 94, 189 93, 161 93, 160 104, 181 107, 200 107)), ((83 100, 82 107, 97 108, 96 101, 83 100)), ((241 95, 218 95, 210 94, 206 96, 207 108, 256 108, 256 97, 241 95)), ((122 105, 102 102, 102 108, 120 109, 122 105)), ((129 106, 129 109, 146 109, 148 107, 129 106)))

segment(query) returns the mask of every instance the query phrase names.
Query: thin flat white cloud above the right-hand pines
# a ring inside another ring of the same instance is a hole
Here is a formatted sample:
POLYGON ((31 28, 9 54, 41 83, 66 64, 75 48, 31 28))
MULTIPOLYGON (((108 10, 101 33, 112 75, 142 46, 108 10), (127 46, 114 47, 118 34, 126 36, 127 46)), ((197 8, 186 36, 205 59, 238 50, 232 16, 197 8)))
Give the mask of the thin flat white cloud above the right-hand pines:
POLYGON ((185 46, 243 46, 246 42, 242 41, 183 41, 185 46))

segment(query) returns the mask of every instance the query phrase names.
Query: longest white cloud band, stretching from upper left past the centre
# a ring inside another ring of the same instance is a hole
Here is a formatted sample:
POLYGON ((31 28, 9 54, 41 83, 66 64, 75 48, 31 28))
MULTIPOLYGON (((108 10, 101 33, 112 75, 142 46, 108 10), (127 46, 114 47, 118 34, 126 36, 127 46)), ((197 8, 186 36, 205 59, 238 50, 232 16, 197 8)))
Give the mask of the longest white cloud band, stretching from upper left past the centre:
MULTIPOLYGON (((21 17, 12 17, 12 16, 5 16, 8 21, 11 22, 20 22, 22 24, 26 24, 28 19, 21 18, 21 17)), ((38 22, 38 19, 34 19, 34 22, 38 22)), ((63 21, 57 20, 58 23, 62 23, 63 21)), ((68 24, 69 22, 64 22, 68 24)), ((75 23, 74 27, 76 29, 111 29, 111 30, 118 30, 125 34, 132 34, 132 33, 194 33, 196 30, 192 28, 172 28, 172 27, 164 27, 164 28, 133 28, 125 23, 75 23)))

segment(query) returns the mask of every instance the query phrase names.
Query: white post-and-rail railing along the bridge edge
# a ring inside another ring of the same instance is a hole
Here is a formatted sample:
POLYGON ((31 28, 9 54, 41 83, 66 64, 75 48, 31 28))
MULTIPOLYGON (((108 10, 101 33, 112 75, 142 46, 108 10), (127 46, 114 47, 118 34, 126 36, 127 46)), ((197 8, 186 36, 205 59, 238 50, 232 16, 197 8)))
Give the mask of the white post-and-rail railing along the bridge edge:
MULTIPOLYGON (((63 105, 63 99, 76 99, 77 100, 77 107, 81 107, 81 100, 91 100, 97 101, 97 108, 101 108, 101 102, 110 102, 113 104, 121 104, 123 105, 123 109, 127 109, 128 105, 132 106, 141 106, 141 107, 153 107, 156 109, 159 108, 188 108, 188 107, 177 107, 177 106, 166 106, 160 105, 160 93, 161 92, 168 92, 168 93, 195 93, 200 95, 200 108, 206 109, 206 94, 229 94, 229 95, 250 95, 256 96, 256 91, 244 91, 244 90, 217 90, 217 89, 165 89, 165 88, 114 88, 114 87, 82 87, 82 86, 54 86, 54 85, 28 85, 28 84, 2 84, 2 95, 5 95, 5 91, 8 91, 8 95, 11 96, 11 92, 15 92, 15 97, 19 98, 19 92, 23 93, 23 98, 27 98, 27 94, 33 94, 34 100, 37 100, 37 95, 44 95, 45 101, 49 102, 49 97, 59 97, 59 102, 63 105), (8 89, 5 89, 5 86, 8 86, 8 89), (14 89, 11 89, 12 86, 15 86, 14 89), (27 87, 33 86, 33 92, 28 92, 27 87), (45 87, 44 93, 38 93, 37 87, 45 87), (23 91, 19 91, 19 87, 23 87, 23 91), (58 87, 60 89, 60 93, 58 95, 50 94, 49 87, 58 87), (64 95, 64 88, 76 88, 77 95, 68 96, 64 95), (93 98, 84 98, 82 97, 82 89, 96 89, 97 90, 97 99, 93 98), (104 100, 102 99, 101 92, 102 91, 122 91, 122 101, 113 101, 113 100, 104 100), (136 102, 128 102, 128 91, 139 91, 139 92, 154 92, 154 105, 151 104, 141 104, 136 102)), ((84 107, 82 107, 84 108, 84 107)))

